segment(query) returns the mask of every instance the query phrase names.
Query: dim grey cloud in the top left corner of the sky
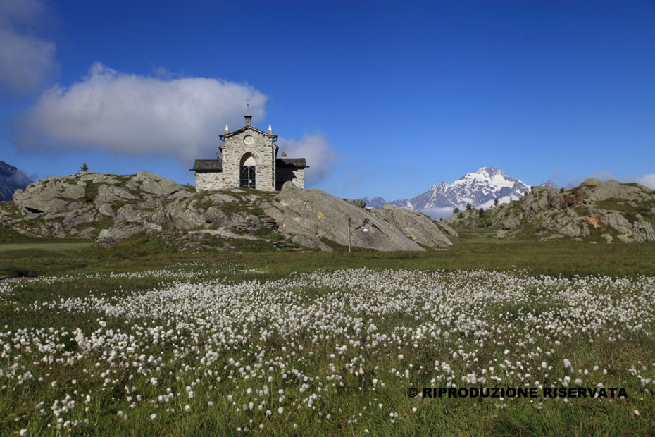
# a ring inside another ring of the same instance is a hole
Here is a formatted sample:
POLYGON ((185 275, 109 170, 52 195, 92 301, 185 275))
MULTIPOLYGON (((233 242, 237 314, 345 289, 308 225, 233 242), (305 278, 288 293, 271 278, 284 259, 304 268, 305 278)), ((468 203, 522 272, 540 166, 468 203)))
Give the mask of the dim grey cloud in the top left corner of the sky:
POLYGON ((0 89, 37 90, 56 72, 54 42, 30 35, 44 16, 37 0, 0 0, 0 89))

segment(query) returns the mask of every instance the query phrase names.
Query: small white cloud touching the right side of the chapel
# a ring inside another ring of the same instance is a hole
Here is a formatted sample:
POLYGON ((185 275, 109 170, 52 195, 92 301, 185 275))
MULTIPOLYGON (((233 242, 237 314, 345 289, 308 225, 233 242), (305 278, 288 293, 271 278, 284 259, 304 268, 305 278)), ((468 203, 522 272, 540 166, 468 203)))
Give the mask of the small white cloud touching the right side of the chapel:
POLYGON ((328 176, 338 157, 325 138, 320 135, 304 135, 300 140, 280 138, 277 145, 280 146, 280 154, 286 151, 289 158, 306 159, 310 167, 305 171, 307 185, 313 185, 328 176))

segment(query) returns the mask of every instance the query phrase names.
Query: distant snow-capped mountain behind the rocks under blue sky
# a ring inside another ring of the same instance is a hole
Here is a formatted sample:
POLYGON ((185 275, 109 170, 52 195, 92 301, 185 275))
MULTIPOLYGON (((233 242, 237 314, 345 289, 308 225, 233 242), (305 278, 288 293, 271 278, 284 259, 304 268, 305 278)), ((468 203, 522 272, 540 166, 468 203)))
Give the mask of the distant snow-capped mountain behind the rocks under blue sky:
MULTIPOLYGON (((502 170, 482 167, 473 173, 466 173, 454 183, 440 182, 412 199, 399 199, 388 203, 420 211, 438 219, 450 216, 454 208, 463 209, 469 203, 476 209, 487 209, 494 204, 495 199, 501 203, 509 202, 511 199, 520 199, 528 191, 530 185, 510 178, 502 170)), ((362 200, 368 207, 380 207, 384 202, 382 197, 375 197, 372 201, 366 198, 362 200)))

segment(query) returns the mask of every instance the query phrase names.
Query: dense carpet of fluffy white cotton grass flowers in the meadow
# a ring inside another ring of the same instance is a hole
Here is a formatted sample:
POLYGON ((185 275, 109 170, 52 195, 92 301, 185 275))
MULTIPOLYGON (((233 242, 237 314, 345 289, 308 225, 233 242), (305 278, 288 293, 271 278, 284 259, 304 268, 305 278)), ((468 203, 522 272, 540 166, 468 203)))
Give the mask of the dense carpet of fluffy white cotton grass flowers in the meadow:
MULTIPOLYGON (((89 290, 84 297, 14 303, 20 312, 89 314, 89 320, 98 319, 87 331, 0 328, 0 362, 8 363, 0 367, 0 388, 10 393, 12 387, 18 390, 38 381, 61 390, 56 403, 51 399, 35 407, 34 414, 52 414, 51 425, 61 424, 66 431, 77 426, 77 418, 94 417, 94 409, 103 402, 91 400, 108 393, 121 393, 125 399, 118 405, 121 411, 129 407, 147 412, 146 417, 152 413, 151 420, 168 418, 175 410, 185 412, 196 399, 212 407, 209 399, 216 398, 217 413, 249 417, 248 423, 239 423, 244 432, 261 429, 261 418, 275 412, 285 415, 280 420, 289 424, 316 419, 343 420, 351 426, 361 413, 361 426, 371 410, 384 409, 387 386, 408 386, 413 378, 432 379, 429 386, 449 388, 613 385, 616 374, 600 377, 601 371, 608 375, 603 369, 606 362, 573 367, 577 356, 570 355, 572 342, 617 345, 625 338, 651 334, 649 329, 655 326, 655 279, 650 277, 343 269, 232 281, 235 275, 266 272, 237 264, 202 269, 98 273, 89 281, 148 276, 162 282, 115 295, 89 290), (304 290, 321 293, 307 298, 304 290), (512 311, 487 311, 507 306, 512 311), (542 307, 556 311, 542 312, 542 307), (389 314, 394 314, 392 319, 389 314), (122 322, 120 331, 109 328, 114 321, 122 322), (421 350, 435 347, 439 361, 421 359, 421 350), (317 361, 319 367, 313 367, 317 361), (89 363, 83 374, 67 373, 81 363, 89 363), (558 363, 559 371, 554 369, 558 363), (354 386, 366 400, 360 412, 347 417, 341 411, 326 411, 337 390, 362 380, 366 383, 354 386), (87 390, 94 381, 97 387, 87 390), (81 409, 88 410, 77 411, 81 409)), ((37 281, 56 293, 73 281, 82 282, 80 278, 37 281)), ((11 298, 5 291, 10 286, 18 292, 23 285, 0 283, 3 302, 11 298)), ((651 393, 655 388, 651 363, 634 360, 627 368, 626 384, 639 386, 644 397, 651 393)), ((410 407, 413 413, 418 411, 418 404, 410 407)), ((506 403, 499 408, 506 408, 506 403)), ((399 418, 396 412, 384 414, 387 420, 399 418)), ((638 414, 633 411, 635 417, 638 414)), ((127 414, 120 417, 125 420, 127 414)))

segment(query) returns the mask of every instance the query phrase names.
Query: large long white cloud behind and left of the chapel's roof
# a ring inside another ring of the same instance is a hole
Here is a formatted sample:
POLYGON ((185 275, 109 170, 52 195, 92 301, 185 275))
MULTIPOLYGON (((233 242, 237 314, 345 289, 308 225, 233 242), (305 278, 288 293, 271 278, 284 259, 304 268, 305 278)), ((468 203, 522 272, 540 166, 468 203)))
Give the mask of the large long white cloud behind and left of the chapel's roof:
POLYGON ((254 120, 267 97, 253 87, 213 78, 161 78, 120 73, 96 63, 81 82, 46 91, 16 125, 20 147, 163 154, 213 159, 218 134, 254 120))

